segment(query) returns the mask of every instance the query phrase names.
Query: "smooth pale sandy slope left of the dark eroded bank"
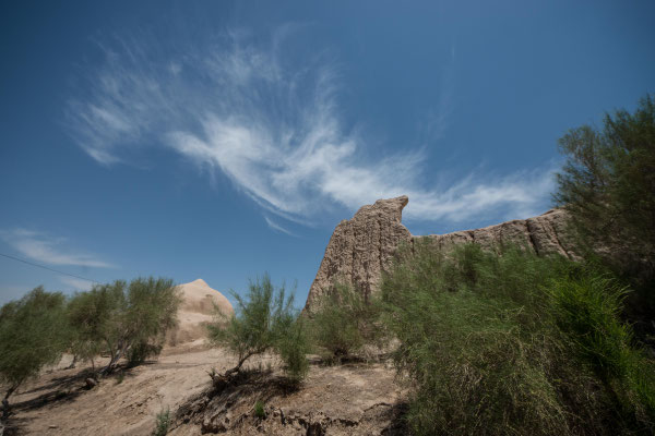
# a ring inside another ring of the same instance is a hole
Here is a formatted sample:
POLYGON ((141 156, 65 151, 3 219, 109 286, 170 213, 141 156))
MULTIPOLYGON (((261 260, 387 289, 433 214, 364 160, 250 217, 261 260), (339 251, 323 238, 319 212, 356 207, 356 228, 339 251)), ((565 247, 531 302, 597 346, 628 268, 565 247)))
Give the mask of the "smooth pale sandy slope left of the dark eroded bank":
POLYGON ((122 376, 114 374, 86 390, 88 367, 61 368, 69 361, 64 359, 60 368, 46 372, 12 396, 12 424, 20 434, 147 435, 159 411, 174 411, 206 386, 206 371, 231 363, 217 349, 168 349, 157 361, 126 370, 122 376))

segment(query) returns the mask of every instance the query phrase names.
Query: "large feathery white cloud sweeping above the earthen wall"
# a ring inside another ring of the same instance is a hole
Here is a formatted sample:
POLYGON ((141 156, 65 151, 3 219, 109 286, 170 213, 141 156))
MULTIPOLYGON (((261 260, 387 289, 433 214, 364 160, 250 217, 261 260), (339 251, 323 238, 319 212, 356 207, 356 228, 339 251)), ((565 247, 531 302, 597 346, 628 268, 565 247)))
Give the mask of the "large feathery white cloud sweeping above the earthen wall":
MULTIPOLYGON (((410 220, 457 222, 499 210, 520 217, 544 208, 550 168, 478 171, 437 189, 426 181, 422 149, 376 154, 356 128, 344 128, 335 62, 319 53, 294 63, 284 50, 288 34, 279 29, 261 44, 228 33, 165 56, 142 40, 117 39, 103 48, 93 86, 69 104, 73 137, 104 165, 158 144, 298 222, 401 194, 410 197, 404 214, 410 220)), ((432 126, 439 135, 452 99, 452 86, 443 88, 432 126)))

